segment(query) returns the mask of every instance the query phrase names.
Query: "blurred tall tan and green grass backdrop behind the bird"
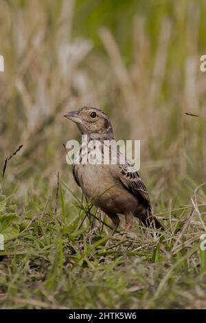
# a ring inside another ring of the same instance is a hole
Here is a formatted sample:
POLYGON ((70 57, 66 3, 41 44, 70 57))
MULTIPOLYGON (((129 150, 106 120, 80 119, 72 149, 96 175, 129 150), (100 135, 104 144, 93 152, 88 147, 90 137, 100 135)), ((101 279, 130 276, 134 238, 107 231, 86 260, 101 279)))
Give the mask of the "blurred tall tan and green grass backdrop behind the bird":
POLYGON ((117 140, 141 140, 154 205, 190 201, 206 175, 205 16, 204 0, 0 0, 1 169, 23 144, 6 190, 45 203, 57 172, 78 190, 62 144, 80 135, 63 115, 93 106, 117 140))

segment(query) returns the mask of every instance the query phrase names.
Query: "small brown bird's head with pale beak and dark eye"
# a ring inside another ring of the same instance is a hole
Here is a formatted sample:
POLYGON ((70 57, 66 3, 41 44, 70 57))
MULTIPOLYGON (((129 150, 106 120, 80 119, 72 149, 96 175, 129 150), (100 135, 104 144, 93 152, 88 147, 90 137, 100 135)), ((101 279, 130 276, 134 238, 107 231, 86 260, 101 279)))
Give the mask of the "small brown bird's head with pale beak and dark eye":
POLYGON ((83 107, 78 111, 67 112, 65 118, 76 122, 83 135, 89 135, 94 140, 113 139, 113 129, 108 115, 102 110, 83 107))

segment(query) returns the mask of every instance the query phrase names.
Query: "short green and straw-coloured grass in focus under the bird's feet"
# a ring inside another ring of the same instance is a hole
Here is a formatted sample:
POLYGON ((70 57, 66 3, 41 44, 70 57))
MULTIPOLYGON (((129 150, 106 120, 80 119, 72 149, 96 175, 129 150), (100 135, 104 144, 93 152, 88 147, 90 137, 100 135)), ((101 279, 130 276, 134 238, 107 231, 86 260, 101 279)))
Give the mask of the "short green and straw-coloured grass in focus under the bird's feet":
POLYGON ((204 227, 196 214, 205 207, 202 190, 194 205, 159 205, 168 227, 160 240, 135 223, 128 238, 118 234, 107 249, 110 223, 78 197, 68 205, 67 194, 71 190, 57 176, 54 196, 45 203, 30 196, 20 211, 1 191, 7 240, 0 252, 1 308, 205 308, 204 227))

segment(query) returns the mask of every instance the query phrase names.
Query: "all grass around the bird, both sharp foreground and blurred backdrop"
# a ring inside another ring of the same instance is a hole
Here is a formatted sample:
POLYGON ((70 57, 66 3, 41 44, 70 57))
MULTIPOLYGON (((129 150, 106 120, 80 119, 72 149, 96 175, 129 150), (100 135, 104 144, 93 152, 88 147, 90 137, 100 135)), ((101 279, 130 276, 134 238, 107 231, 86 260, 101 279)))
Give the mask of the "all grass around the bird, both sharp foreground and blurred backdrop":
POLYGON ((205 309, 205 1, 0 2, 1 308, 205 309), (160 240, 122 219, 105 247, 62 145, 84 105, 141 140, 160 240))

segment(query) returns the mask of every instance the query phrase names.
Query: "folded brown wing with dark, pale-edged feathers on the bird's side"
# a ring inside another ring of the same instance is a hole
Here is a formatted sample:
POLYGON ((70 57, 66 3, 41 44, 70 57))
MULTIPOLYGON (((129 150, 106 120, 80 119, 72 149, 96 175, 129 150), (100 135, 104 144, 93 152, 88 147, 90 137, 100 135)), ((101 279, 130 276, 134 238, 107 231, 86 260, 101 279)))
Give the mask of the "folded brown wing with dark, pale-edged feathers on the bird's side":
POLYGON ((130 164, 130 161, 125 159, 124 164, 117 165, 117 177, 122 185, 132 193, 137 199, 148 208, 148 211, 151 212, 150 197, 146 186, 139 177, 135 167, 130 164))

